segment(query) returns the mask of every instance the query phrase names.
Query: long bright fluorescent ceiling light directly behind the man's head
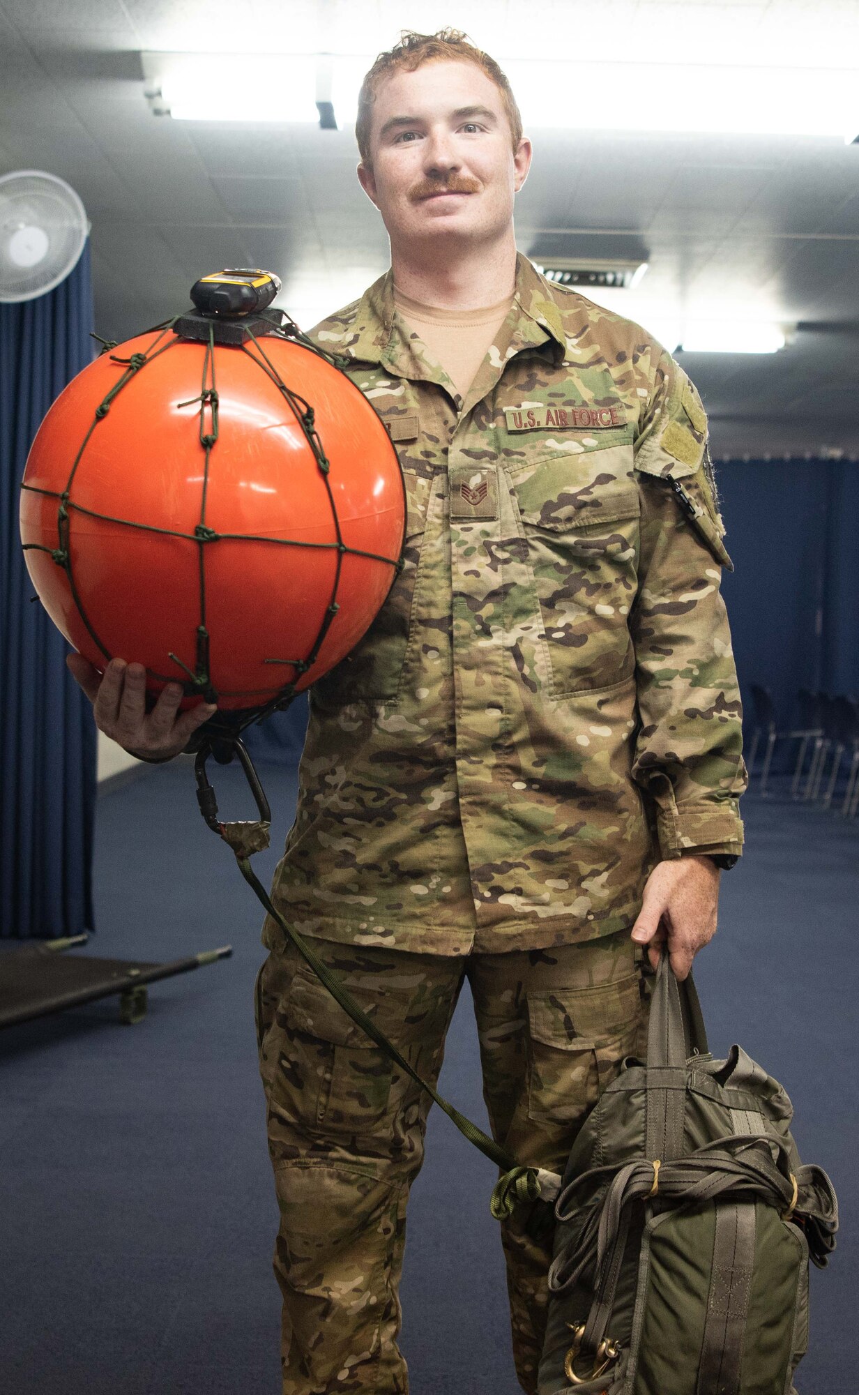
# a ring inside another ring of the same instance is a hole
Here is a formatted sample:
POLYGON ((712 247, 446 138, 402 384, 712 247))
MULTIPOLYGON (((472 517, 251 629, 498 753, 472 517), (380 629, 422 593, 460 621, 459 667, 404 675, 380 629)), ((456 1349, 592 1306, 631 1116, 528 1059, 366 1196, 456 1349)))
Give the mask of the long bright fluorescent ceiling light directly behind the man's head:
MULTIPOLYGON (((332 42, 335 38, 332 36, 332 42)), ((177 120, 354 124, 372 54, 142 53, 148 99, 177 120)), ((859 67, 505 59, 526 130, 859 137, 859 67), (607 100, 615 93, 616 100, 607 100), (647 100, 643 100, 643 98, 647 100)))

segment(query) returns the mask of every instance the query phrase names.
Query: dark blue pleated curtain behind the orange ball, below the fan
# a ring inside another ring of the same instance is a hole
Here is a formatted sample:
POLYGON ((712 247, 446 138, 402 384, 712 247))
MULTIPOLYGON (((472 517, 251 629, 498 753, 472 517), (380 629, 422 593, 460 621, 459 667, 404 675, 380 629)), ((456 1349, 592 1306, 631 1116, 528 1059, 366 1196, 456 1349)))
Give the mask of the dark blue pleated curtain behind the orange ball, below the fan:
POLYGON ((38 300, 0 306, 0 935, 93 929, 92 709, 33 587, 18 536, 26 452, 50 403, 92 360, 89 244, 38 300))

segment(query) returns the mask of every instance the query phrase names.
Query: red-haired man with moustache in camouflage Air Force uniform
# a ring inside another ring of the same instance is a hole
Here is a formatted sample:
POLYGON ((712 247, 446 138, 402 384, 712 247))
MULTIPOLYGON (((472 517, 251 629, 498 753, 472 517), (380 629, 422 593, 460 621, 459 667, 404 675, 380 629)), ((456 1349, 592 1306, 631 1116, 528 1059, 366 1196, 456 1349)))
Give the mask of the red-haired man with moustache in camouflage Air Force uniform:
MULTIPOLYGON (((717 865, 742 850, 707 420, 646 331, 516 254, 530 142, 492 60, 413 36, 363 96, 358 173, 392 272, 314 336, 349 360, 396 444, 404 569, 311 691, 273 900, 431 1081, 467 978, 492 1133, 559 1172, 641 1049, 641 946, 655 961, 667 939, 686 974, 715 929, 717 865), (395 287, 464 308, 510 292, 464 393, 395 287)), ((166 732, 165 696, 153 732, 141 677, 109 670, 96 720, 172 753, 191 718, 166 732)), ((397 1281, 428 1099, 273 919, 264 943, 283 1392, 402 1395, 397 1281)), ((551 1239, 524 1216, 502 1232, 516 1368, 534 1392, 551 1239)))

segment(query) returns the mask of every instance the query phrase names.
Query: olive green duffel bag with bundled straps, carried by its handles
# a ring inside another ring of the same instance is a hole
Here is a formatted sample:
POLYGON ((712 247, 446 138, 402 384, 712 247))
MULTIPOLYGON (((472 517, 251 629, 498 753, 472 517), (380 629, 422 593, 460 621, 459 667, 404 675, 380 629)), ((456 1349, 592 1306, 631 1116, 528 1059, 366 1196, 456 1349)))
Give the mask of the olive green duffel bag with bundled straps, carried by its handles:
POLYGON ((540 1395, 793 1392, 838 1207, 791 1119, 742 1048, 713 1060, 664 956, 647 1063, 625 1062, 563 1175, 540 1395))

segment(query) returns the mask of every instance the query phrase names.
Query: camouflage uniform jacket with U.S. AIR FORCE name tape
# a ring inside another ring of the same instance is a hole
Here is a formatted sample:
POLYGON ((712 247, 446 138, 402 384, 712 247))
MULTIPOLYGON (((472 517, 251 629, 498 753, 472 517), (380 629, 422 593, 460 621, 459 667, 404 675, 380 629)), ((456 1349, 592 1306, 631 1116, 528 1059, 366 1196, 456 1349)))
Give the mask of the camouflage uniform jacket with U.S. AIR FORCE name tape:
POLYGON ((731 561, 683 370, 523 255, 464 400, 390 272, 312 338, 396 442, 407 527, 311 689, 279 910, 357 944, 541 949, 632 925, 660 858, 740 852, 731 561))

